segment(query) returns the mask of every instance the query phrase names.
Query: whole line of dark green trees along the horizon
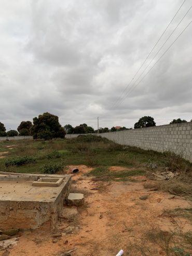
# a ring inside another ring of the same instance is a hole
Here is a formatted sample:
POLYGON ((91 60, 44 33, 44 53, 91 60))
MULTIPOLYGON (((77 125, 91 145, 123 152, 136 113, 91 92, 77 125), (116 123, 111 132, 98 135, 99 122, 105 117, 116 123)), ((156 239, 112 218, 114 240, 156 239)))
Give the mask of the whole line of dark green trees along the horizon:
MULTIPOLYGON (((186 120, 181 118, 173 119, 170 124, 185 123, 186 120)), ((190 120, 192 122, 192 119, 190 120)), ((143 116, 138 122, 134 124, 134 129, 156 126, 154 118, 151 116, 143 116)), ((132 128, 112 127, 111 129, 105 127, 99 128, 99 133, 109 131, 122 131, 132 128)), ((33 118, 33 124, 31 121, 22 121, 16 130, 9 130, 6 132, 6 128, 3 123, 0 122, 0 137, 12 137, 12 136, 33 136, 34 139, 50 140, 52 138, 64 138, 65 134, 83 134, 83 133, 98 133, 98 130, 94 130, 87 124, 80 124, 73 127, 68 124, 62 127, 59 123, 59 117, 52 115, 48 112, 38 117, 33 118)))

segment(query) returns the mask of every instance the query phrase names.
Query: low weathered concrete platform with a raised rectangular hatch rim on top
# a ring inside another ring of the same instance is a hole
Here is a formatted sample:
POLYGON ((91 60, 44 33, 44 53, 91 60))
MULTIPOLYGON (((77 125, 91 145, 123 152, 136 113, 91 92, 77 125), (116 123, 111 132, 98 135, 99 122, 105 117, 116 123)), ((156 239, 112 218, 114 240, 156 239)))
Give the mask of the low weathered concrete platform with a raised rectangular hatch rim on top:
POLYGON ((71 187, 71 176, 0 172, 0 229, 56 227, 71 187), (32 186, 40 178, 59 178, 59 186, 32 186))

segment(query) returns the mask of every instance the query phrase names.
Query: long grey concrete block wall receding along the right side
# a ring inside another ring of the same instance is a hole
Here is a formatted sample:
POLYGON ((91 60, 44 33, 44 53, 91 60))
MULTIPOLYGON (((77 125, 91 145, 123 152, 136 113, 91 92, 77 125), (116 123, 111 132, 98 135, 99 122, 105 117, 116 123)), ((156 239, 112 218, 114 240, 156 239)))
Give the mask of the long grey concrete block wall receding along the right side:
MULTIPOLYGON (((65 137, 75 138, 78 135, 66 134, 65 137)), ((144 150, 182 152, 184 158, 192 162, 192 122, 106 132, 99 135, 119 144, 137 146, 144 150)))

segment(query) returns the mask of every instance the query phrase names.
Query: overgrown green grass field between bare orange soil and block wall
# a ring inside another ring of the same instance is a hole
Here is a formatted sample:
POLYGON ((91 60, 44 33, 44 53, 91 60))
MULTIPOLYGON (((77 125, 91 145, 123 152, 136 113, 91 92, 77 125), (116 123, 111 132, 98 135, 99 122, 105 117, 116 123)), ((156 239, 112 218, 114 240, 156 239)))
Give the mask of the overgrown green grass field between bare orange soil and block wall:
MULTIPOLYGON (((59 154, 64 156, 65 165, 87 165, 95 169, 99 177, 111 180, 127 180, 134 175, 143 175, 151 172, 172 171, 178 175, 172 180, 155 182, 153 186, 159 190, 168 191, 177 195, 190 196, 192 193, 192 164, 182 158, 182 154, 155 151, 145 151, 138 147, 122 146, 106 138, 88 134, 78 138, 65 140, 21 140, 0 143, 0 152, 8 151, 5 158, 0 158, 1 170, 11 172, 38 173, 47 164, 47 156, 52 163, 60 162, 59 154), (12 150, 7 145, 15 144, 12 150), (52 152, 57 152, 56 154, 52 152), (32 156, 36 158, 33 165, 5 167, 7 159, 32 156), (134 167, 132 171, 108 172, 110 166, 134 167), (97 169, 99 168, 99 169, 97 169)), ((94 176, 94 175, 93 175, 94 176)), ((154 188, 154 187, 153 187, 154 188)))

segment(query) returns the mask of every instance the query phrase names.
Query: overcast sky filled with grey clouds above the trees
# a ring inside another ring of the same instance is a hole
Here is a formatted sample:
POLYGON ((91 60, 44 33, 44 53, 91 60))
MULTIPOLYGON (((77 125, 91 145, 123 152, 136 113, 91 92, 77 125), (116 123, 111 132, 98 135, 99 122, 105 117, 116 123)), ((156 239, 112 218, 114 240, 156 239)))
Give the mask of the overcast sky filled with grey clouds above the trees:
MULTIPOLYGON (((58 115, 62 126, 93 128, 98 116, 109 128, 133 127, 145 115, 156 125, 189 121, 192 23, 115 104, 183 1, 0 0, 0 122, 17 129, 44 112, 58 115)), ((132 83, 191 5, 185 1, 132 83)), ((148 69, 191 19, 192 8, 148 69)))

